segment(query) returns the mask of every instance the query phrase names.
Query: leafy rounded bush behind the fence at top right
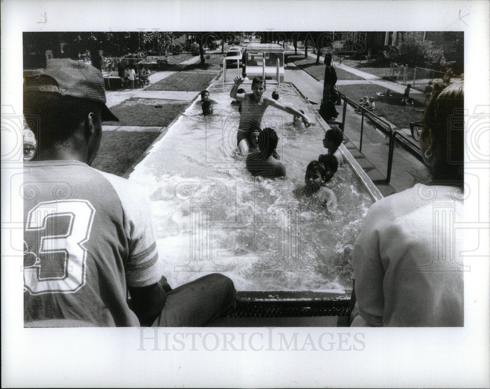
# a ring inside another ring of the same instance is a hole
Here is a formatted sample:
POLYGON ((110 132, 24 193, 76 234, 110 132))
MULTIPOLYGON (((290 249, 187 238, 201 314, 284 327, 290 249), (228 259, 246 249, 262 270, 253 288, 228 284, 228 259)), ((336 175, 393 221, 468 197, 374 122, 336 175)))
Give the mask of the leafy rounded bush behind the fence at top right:
POLYGON ((411 67, 444 60, 442 48, 424 40, 423 33, 419 32, 398 33, 397 43, 390 48, 388 57, 394 62, 411 67))

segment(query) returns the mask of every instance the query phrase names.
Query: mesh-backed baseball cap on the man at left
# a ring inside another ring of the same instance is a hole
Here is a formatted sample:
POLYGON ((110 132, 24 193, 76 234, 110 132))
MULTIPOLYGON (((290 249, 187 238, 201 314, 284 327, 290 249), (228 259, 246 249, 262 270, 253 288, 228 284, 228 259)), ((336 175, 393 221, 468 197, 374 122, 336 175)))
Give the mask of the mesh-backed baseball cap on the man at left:
POLYGON ((47 92, 72 96, 102 103, 103 121, 119 119, 107 108, 104 77, 102 73, 83 61, 68 58, 53 58, 46 68, 24 72, 24 93, 47 92))

